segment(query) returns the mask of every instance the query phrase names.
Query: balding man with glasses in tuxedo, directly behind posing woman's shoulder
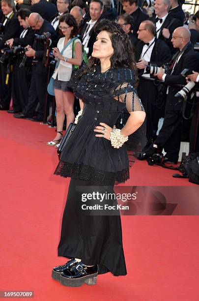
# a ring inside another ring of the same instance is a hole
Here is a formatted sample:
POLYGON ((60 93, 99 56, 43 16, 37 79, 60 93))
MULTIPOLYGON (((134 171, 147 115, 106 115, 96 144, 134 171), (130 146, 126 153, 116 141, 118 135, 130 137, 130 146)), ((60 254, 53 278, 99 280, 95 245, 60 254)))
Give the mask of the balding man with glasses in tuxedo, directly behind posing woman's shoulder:
POLYGON ((139 69, 140 77, 138 95, 146 112, 146 137, 148 140, 142 150, 144 151, 151 145, 154 133, 158 129, 158 121, 164 116, 165 100, 162 95, 164 87, 160 87, 154 81, 149 81, 148 78, 153 75, 146 73, 145 68, 149 64, 162 66, 164 63, 168 63, 171 60, 171 51, 164 41, 155 38, 155 26, 152 21, 145 20, 141 23, 138 38, 140 39, 136 46, 136 66, 139 69), (162 89, 161 93, 160 88, 162 89))

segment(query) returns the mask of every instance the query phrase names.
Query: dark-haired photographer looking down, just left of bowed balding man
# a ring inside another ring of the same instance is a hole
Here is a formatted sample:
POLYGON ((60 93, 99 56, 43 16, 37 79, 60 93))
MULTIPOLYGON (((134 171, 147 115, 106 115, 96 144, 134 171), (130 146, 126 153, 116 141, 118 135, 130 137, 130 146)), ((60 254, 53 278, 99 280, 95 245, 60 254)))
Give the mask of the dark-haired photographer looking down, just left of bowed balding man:
MULTIPOLYGON (((32 45, 34 39, 34 31, 28 24, 28 16, 31 11, 26 8, 21 8, 17 11, 16 16, 20 25, 24 28, 19 38, 12 38, 6 41, 6 44, 10 47, 21 46, 22 48, 27 45, 32 45)), ((17 54, 16 59, 13 62, 13 74, 12 74, 12 107, 13 110, 8 110, 8 113, 22 112, 23 108, 28 103, 28 90, 31 79, 31 58, 21 51, 17 54), (26 62, 26 63, 25 63, 26 62)))

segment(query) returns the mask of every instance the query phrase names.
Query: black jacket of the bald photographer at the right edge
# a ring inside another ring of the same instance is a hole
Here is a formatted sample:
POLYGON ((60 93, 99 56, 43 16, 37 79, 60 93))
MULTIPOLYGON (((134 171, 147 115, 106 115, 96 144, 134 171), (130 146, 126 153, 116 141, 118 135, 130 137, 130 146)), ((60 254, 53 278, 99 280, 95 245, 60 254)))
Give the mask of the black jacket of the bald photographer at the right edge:
MULTIPOLYGON (((186 85, 186 79, 180 73, 185 69, 190 70, 199 70, 199 61, 197 60, 197 55, 194 52, 194 46, 192 43, 189 43, 186 50, 178 60, 178 62, 174 65, 173 71, 170 69, 165 77, 165 84, 173 85, 173 84, 181 84, 186 85), (172 74, 171 74, 172 71, 172 74)), ((181 110, 182 102, 179 102, 178 98, 174 97, 174 95, 181 90, 180 87, 169 87, 169 94, 166 102, 167 110, 181 110)))

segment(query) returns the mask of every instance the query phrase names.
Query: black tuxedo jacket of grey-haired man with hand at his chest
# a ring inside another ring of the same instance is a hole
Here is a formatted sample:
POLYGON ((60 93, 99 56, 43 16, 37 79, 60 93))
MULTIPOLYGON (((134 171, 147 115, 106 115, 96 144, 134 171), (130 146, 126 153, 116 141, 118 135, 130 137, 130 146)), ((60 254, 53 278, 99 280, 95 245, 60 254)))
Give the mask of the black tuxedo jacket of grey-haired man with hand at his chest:
MULTIPOLYGON (((155 19, 156 19, 156 16, 153 16, 150 18, 150 20, 155 24, 155 19)), ((178 19, 175 19, 173 18, 170 14, 168 14, 167 18, 165 19, 165 22, 162 23, 162 26, 161 26, 161 29, 160 29, 160 33, 159 33, 159 36, 158 36, 158 39, 160 40, 163 40, 167 43, 167 45, 169 46, 170 50, 171 50, 171 53, 174 53, 175 50, 173 48, 173 45, 171 43, 171 38, 172 38, 172 33, 173 31, 177 28, 177 27, 180 27, 181 26, 181 21, 178 20, 178 19), (170 31, 170 37, 167 39, 164 37, 164 35, 162 34, 162 30, 164 28, 167 28, 169 29, 170 31)))

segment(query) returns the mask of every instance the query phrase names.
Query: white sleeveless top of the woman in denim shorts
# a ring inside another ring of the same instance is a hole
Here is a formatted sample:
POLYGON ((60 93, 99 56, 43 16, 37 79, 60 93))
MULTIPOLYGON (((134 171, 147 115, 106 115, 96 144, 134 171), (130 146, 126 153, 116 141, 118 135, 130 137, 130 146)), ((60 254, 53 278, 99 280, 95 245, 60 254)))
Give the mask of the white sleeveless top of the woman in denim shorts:
MULTIPOLYGON (((57 43, 57 48, 60 52, 64 47, 64 39, 65 39, 65 37, 60 38, 58 40, 58 43, 57 43)), ((76 44, 77 42, 81 43, 81 40, 80 39, 75 39, 74 43, 76 44)), ((67 59, 72 59, 72 56, 73 56, 73 42, 70 43, 70 45, 66 47, 66 49, 64 50, 62 56, 64 58, 67 58, 67 59)), ((71 74, 72 74, 72 64, 67 62, 67 61, 65 62, 63 60, 60 60, 58 68, 55 69, 54 74, 53 74, 52 77, 54 79, 58 78, 59 81, 67 82, 67 81, 70 80, 71 74)))

